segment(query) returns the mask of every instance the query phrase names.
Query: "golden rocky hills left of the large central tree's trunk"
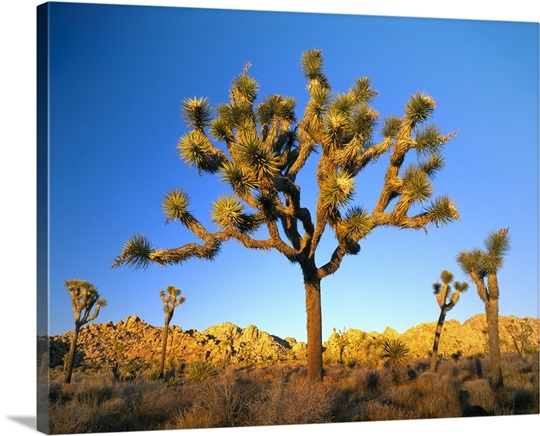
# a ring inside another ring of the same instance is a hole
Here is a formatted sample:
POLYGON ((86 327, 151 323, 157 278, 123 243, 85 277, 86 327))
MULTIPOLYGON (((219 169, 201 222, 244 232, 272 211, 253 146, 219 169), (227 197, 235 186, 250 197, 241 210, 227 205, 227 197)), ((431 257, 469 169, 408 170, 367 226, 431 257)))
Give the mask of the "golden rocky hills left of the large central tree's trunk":
MULTIPOLYGON (((49 338, 50 367, 61 367, 72 335, 68 332, 49 338)), ((97 370, 116 363, 124 368, 145 369, 155 365, 161 356, 162 335, 162 327, 153 327, 137 316, 118 323, 90 324, 79 333, 75 364, 97 370)), ((223 323, 202 332, 171 326, 167 355, 171 365, 195 360, 216 366, 247 365, 298 359, 305 354, 305 347, 304 343, 272 336, 253 325, 242 329, 223 323)))

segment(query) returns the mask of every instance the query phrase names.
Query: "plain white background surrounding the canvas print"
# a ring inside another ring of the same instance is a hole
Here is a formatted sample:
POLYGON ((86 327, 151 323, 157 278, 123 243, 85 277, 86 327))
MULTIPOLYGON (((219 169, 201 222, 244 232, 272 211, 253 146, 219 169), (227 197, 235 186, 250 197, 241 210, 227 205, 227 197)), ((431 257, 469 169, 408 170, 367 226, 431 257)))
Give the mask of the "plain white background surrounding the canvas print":
MULTIPOLYGON (((74 1, 75 3, 81 3, 74 1)), ((141 1, 89 1, 152 5, 141 1)), ((35 144, 36 144, 36 7, 42 2, 4 0, 0 5, 1 86, 0 93, 0 430, 4 435, 34 434, 35 430, 35 335, 36 335, 36 220, 35 220, 35 144)), ((319 1, 158 1, 160 6, 186 6, 226 9, 256 9, 294 12, 352 13, 361 15, 462 18, 539 22, 535 1, 420 1, 420 0, 319 1)), ((297 435, 340 432, 401 435, 439 435, 493 432, 526 432, 540 428, 540 415, 525 417, 464 418, 400 421, 385 423, 330 424, 295 426, 297 435)), ((182 435, 270 435, 279 429, 244 428, 219 430, 178 430, 166 434, 182 435)), ((111 433, 113 434, 113 433, 111 433)), ((157 432, 131 432, 157 434, 157 432)))

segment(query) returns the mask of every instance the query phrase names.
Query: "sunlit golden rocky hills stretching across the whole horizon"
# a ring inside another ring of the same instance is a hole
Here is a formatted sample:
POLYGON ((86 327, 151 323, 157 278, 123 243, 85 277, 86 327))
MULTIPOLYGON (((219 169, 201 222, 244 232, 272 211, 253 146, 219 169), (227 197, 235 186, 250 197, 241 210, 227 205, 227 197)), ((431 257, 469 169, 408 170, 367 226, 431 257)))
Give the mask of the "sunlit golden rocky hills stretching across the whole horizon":
MULTIPOLYGON (((538 351, 538 318, 500 317, 501 351, 538 351)), ((487 353, 485 315, 476 315, 463 324, 447 320, 439 352, 444 356, 481 355, 487 353)), ((81 329, 76 366, 108 370, 118 364, 127 371, 140 371, 157 364, 161 352, 163 329, 151 326, 137 316, 125 321, 90 324, 81 329)), ((383 333, 357 329, 335 331, 324 344, 326 362, 378 365, 380 346, 385 339, 399 338, 410 349, 411 357, 427 357, 433 346, 435 323, 412 327, 403 334, 391 328, 383 333)), ((61 368, 69 349, 72 332, 49 338, 49 365, 61 368)), ((46 339, 42 339, 41 359, 46 339)), ((202 332, 172 326, 169 332, 168 365, 175 366, 204 360, 220 366, 305 359, 306 344, 293 338, 281 339, 250 325, 240 328, 232 323, 210 327, 202 332)))

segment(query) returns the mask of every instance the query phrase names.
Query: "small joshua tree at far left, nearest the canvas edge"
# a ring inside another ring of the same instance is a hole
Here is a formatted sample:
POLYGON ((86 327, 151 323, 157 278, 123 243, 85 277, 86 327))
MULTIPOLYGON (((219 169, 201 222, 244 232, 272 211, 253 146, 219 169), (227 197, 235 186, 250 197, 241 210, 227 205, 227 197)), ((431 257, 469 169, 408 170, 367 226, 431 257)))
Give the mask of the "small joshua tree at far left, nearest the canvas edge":
POLYGON ((87 281, 80 279, 66 280, 65 286, 71 297, 71 307, 75 318, 75 331, 71 338, 71 346, 64 365, 64 382, 71 383, 77 340, 81 327, 97 318, 99 310, 107 304, 107 300, 100 298, 94 285, 87 281))

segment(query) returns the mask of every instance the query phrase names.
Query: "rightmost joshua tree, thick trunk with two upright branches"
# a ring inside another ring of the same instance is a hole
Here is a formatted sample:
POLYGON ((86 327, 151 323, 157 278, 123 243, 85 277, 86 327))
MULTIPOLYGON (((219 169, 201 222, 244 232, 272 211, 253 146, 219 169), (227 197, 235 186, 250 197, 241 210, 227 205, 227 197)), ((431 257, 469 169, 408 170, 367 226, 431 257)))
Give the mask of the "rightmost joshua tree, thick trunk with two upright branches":
POLYGON ((484 239, 484 250, 475 248, 461 251, 457 262, 463 272, 476 285, 478 295, 484 302, 487 318, 489 356, 491 360, 492 388, 503 387, 501 350, 499 344, 499 283, 497 272, 503 265, 503 257, 510 249, 508 228, 493 231, 484 239))

